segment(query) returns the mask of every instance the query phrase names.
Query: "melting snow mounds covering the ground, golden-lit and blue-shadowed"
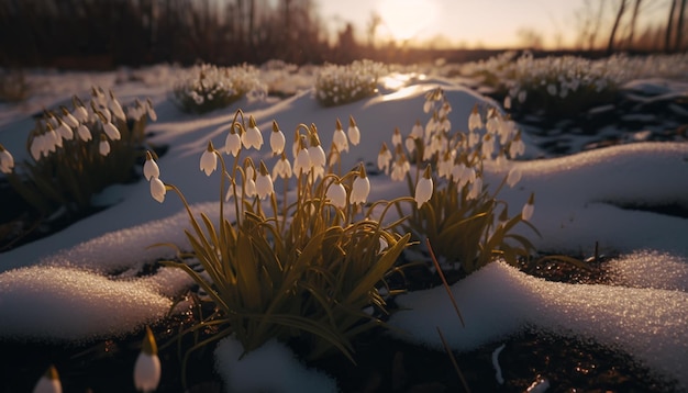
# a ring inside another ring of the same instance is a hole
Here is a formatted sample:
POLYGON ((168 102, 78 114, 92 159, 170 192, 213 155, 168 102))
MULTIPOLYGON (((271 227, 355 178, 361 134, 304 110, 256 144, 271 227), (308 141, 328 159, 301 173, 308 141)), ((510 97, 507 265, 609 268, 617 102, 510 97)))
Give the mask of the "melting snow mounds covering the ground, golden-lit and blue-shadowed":
MULTIPOLYGON (((375 162, 395 127, 406 135, 417 119, 424 121, 424 93, 430 89, 445 90, 454 127, 467 124, 475 103, 496 104, 453 80, 435 78, 329 109, 320 108, 310 90, 300 90, 288 99, 240 101, 197 116, 179 112, 168 100, 174 71, 156 66, 101 74, 38 72, 35 78, 45 86, 41 94, 16 106, 1 104, 0 143, 20 161, 33 125, 30 116, 75 93, 87 93, 91 85, 111 88, 123 103, 149 97, 158 114, 147 127, 153 133, 149 142, 169 146, 158 160, 160 179, 179 187, 196 213, 213 217, 218 177, 206 177, 198 162, 209 139, 224 145, 238 108, 256 119, 264 135, 277 121, 288 143, 290 130, 314 123, 325 147, 332 143, 336 120, 345 123, 353 115, 362 144, 343 155, 342 167, 347 169, 359 161, 375 162), (127 72, 138 78, 127 78, 127 72)), ((643 80, 632 87, 653 91, 667 83, 643 80)), ((665 204, 688 209, 688 144, 641 142, 531 159, 541 151, 524 139, 529 159, 488 166, 486 182, 498 183, 518 166, 521 181, 504 188, 500 196, 518 210, 535 193, 532 223, 542 237, 524 235, 536 248, 557 254, 590 255, 596 243, 603 252, 621 252, 610 263, 612 284, 546 282, 495 262, 452 287, 465 327, 443 288, 400 295, 397 302, 409 311, 396 313, 390 324, 406 332, 400 338, 440 350, 437 327, 456 350, 497 348, 500 339, 526 327, 591 338, 632 353, 688 389, 688 220, 650 210, 665 204)), ((266 164, 271 159, 268 154, 255 157, 266 164)), ((369 200, 408 193, 404 182, 385 176, 371 176, 370 183, 369 200)), ((167 313, 173 296, 189 285, 190 279, 171 268, 137 274, 144 265, 174 254, 169 247, 149 246, 187 245, 182 229, 189 221, 176 195, 168 192, 159 204, 151 198, 148 183, 138 181, 111 187, 99 198, 116 203, 49 237, 0 254, 0 336, 80 340, 135 332, 167 313)), ((336 391, 335 381, 303 368, 276 341, 240 359, 241 355, 241 346, 231 338, 217 345, 217 368, 228 390, 336 391), (266 364, 274 371, 268 379, 266 364)))

